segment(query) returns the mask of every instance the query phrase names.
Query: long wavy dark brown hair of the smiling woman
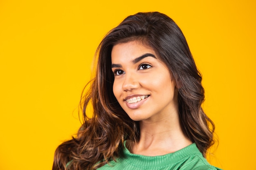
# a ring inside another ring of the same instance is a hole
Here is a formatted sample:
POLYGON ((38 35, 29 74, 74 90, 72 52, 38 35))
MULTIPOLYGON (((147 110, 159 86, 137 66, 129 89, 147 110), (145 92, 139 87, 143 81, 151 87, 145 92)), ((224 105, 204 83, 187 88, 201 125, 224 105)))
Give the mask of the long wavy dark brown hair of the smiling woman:
POLYGON ((81 99, 83 125, 76 137, 58 146, 53 170, 94 170, 119 157, 125 140, 139 140, 139 123, 121 108, 113 94, 111 51, 115 44, 139 41, 150 46, 168 66, 178 87, 180 124, 184 134, 205 157, 213 145, 215 126, 202 110, 204 88, 186 39, 167 15, 159 12, 130 15, 112 29, 97 49, 96 76, 81 99), (92 104, 93 113, 87 113, 92 104))

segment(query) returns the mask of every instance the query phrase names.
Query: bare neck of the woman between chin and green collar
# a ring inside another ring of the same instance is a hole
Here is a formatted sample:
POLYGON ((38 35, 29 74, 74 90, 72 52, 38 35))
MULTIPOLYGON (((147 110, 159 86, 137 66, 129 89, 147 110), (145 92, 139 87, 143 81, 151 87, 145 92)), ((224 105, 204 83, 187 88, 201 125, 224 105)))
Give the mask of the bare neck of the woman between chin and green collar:
POLYGON ((184 135, 178 113, 155 121, 140 121, 140 139, 129 144, 130 152, 145 156, 166 155, 192 142, 184 135))

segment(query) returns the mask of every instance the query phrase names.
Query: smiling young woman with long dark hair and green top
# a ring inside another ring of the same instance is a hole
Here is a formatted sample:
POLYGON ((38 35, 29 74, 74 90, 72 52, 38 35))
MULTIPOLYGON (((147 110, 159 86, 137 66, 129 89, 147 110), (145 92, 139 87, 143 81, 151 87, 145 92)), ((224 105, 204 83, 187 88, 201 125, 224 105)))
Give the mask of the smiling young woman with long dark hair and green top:
POLYGON ((128 16, 97 52, 84 123, 56 149, 53 170, 218 169, 204 158, 215 126, 201 108, 202 77, 171 18, 128 16))

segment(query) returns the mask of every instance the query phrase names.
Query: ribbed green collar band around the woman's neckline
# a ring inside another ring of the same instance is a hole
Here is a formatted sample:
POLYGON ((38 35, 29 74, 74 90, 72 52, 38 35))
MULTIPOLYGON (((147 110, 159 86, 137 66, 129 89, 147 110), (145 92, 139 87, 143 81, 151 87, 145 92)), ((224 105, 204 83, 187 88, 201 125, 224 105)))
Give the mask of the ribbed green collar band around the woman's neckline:
POLYGON ((161 156, 144 156, 144 155, 136 155, 130 153, 130 151, 126 148, 124 143, 124 150, 121 156, 121 159, 127 161, 128 163, 135 165, 141 168, 157 168, 157 167, 165 167, 170 166, 171 164, 175 164, 185 157, 189 157, 191 155, 201 154, 201 152, 196 147, 195 143, 191 144, 181 150, 176 152, 161 155, 161 156))

